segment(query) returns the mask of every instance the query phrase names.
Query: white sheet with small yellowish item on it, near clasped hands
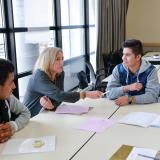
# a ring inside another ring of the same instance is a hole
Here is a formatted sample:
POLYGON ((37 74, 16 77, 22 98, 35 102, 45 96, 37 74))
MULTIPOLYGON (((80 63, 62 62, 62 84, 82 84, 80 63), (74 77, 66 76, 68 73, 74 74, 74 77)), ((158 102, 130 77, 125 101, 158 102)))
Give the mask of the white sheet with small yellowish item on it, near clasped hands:
POLYGON ((2 155, 12 155, 21 153, 47 152, 55 150, 55 136, 43 136, 28 139, 11 139, 6 143, 2 155), (33 143, 35 140, 40 140, 44 143, 43 146, 35 148, 33 143))

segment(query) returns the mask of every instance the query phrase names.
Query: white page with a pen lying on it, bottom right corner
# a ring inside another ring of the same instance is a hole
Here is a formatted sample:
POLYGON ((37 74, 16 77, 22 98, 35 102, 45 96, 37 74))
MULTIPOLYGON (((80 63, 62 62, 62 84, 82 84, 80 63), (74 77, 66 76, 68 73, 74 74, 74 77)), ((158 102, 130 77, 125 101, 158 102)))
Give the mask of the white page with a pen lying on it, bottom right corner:
POLYGON ((153 149, 134 147, 127 157, 127 160, 150 160, 150 158, 139 156, 139 154, 155 157, 156 153, 157 151, 153 149))

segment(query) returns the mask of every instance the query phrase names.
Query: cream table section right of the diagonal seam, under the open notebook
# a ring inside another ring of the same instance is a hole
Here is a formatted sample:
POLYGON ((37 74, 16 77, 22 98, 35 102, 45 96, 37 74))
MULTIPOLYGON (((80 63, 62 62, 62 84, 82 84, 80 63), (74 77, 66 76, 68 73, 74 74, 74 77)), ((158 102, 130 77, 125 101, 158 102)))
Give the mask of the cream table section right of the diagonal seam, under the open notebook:
POLYGON ((152 112, 160 115, 160 105, 155 103, 120 107, 111 117, 114 125, 103 133, 95 134, 73 160, 109 160, 123 144, 160 150, 160 128, 118 123, 118 120, 129 112, 152 112))

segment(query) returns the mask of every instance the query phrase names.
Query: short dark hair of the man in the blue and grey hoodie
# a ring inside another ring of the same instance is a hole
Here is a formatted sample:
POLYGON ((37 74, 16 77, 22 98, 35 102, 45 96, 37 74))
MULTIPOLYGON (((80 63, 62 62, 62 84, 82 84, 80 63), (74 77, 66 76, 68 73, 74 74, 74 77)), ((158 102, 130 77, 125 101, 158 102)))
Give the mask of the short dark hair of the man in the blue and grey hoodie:
POLYGON ((123 48, 130 48, 130 49, 132 49, 132 51, 135 55, 140 54, 141 56, 143 56, 143 46, 142 46, 142 42, 140 40, 137 40, 137 39, 126 40, 123 43, 122 47, 123 48))

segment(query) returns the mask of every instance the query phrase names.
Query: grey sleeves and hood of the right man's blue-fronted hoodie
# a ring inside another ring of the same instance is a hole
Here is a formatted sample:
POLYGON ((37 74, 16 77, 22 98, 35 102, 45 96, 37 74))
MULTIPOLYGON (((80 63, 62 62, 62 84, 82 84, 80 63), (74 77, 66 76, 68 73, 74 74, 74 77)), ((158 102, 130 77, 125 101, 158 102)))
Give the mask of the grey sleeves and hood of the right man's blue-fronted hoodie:
MULTIPOLYGON (((124 64, 122 64, 122 65, 123 65, 124 69, 127 71, 127 78, 128 78, 129 70, 124 64)), ((151 64, 148 61, 142 59, 140 69, 136 73, 137 74, 137 82, 139 81, 138 80, 139 74, 146 71, 150 66, 151 66, 151 64)), ((126 78, 126 81, 127 81, 127 78, 126 78)), ((137 104, 145 104, 145 103, 158 102, 159 87, 160 87, 160 85, 158 82, 157 70, 156 70, 156 68, 154 68, 147 76, 145 93, 141 94, 141 95, 135 95, 136 103, 137 104)), ((109 91, 109 94, 108 94, 109 99, 116 99, 118 97, 127 95, 127 93, 124 93, 123 86, 120 83, 119 71, 118 71, 117 66, 114 68, 114 70, 112 72, 111 81, 108 82, 106 90, 109 91)))

